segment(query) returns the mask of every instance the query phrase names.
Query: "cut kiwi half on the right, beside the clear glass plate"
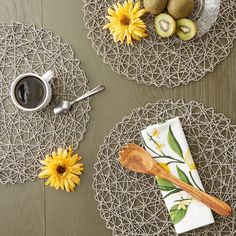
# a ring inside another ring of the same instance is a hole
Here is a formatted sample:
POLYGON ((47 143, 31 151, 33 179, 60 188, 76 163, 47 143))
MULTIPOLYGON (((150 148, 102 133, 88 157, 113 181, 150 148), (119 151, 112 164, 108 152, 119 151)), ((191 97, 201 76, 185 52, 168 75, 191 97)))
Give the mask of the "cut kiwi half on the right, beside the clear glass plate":
POLYGON ((176 35, 183 41, 188 41, 194 38, 197 34, 197 25, 189 19, 177 20, 176 35))

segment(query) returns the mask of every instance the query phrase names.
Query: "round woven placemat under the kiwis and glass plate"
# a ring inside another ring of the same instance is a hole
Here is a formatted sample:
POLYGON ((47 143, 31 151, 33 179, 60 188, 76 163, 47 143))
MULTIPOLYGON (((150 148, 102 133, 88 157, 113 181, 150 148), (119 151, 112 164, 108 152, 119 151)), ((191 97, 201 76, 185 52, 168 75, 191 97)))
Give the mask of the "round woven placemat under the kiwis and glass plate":
MULTIPOLYGON (((150 35, 135 46, 114 43, 109 31, 102 29, 107 22, 108 7, 117 0, 83 1, 88 38, 97 54, 103 56, 104 63, 112 70, 141 84, 175 87, 198 81, 229 55, 236 38, 235 0, 217 0, 221 5, 216 23, 203 37, 190 42, 158 37, 154 32, 154 17, 147 14, 143 19, 150 35)), ((206 17, 210 17, 212 9, 216 11, 214 5, 209 6, 206 17)))

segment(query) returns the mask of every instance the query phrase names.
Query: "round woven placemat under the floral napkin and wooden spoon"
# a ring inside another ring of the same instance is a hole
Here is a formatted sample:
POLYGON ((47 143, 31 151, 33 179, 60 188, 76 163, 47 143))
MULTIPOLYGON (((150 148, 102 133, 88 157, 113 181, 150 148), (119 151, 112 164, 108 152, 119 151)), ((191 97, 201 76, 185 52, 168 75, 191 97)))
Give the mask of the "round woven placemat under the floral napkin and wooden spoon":
POLYGON ((232 217, 214 215, 215 223, 183 235, 236 234, 236 126, 223 114, 197 102, 161 100, 135 109, 101 145, 93 187, 98 210, 116 236, 175 235, 154 178, 129 172, 118 163, 118 151, 129 142, 141 144, 140 131, 179 116, 206 191, 228 202, 232 217))

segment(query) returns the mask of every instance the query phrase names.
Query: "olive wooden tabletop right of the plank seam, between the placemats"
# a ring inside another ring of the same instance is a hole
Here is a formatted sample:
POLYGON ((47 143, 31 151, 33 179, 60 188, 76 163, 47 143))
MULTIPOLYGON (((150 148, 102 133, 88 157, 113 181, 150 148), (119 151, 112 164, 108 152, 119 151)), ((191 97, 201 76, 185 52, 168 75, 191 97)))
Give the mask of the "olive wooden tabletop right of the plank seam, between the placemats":
POLYGON ((82 68, 86 71, 91 87, 100 83, 106 86, 103 94, 92 99, 91 122, 88 125, 86 139, 80 147, 86 168, 81 186, 72 194, 57 193, 46 188, 47 235, 54 233, 63 236, 68 232, 70 235, 81 236, 111 235, 111 231, 105 229, 105 221, 99 219, 97 203, 93 199, 93 165, 104 136, 123 116, 130 114, 133 108, 147 102, 156 102, 161 98, 183 98, 186 101, 196 100, 206 106, 213 106, 216 111, 223 111, 236 121, 231 106, 226 105, 236 101, 231 95, 235 91, 235 82, 232 79, 232 71, 235 70, 232 62, 236 56, 235 50, 214 73, 208 74, 200 82, 174 89, 141 86, 112 72, 108 65, 104 65, 102 58, 96 55, 86 36, 82 5, 83 3, 77 0, 44 0, 43 3, 44 27, 60 35, 73 47, 81 59, 82 68), (221 97, 217 98, 219 94, 221 97), (226 103, 229 99, 230 102, 226 103))

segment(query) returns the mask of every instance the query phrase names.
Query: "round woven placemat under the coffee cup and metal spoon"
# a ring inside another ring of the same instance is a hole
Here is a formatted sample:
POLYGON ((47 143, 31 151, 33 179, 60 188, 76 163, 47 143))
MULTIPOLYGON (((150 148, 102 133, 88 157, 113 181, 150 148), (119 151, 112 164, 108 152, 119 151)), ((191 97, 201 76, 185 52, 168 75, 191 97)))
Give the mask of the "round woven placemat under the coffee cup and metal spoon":
POLYGON ((0 182, 22 183, 36 178, 39 160, 53 148, 78 147, 89 121, 89 99, 64 116, 55 116, 53 107, 88 91, 88 80, 71 47, 34 25, 0 24, 0 55, 0 182), (55 74, 50 105, 40 112, 18 110, 10 97, 13 80, 49 69, 55 74))

